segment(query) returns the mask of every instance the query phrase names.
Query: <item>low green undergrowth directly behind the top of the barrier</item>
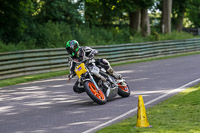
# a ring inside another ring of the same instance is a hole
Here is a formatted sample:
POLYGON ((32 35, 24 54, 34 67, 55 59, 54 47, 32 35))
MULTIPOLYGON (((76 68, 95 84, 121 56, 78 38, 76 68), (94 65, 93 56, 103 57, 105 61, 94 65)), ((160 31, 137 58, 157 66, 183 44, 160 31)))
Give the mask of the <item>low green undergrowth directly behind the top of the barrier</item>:
POLYGON ((97 46, 194 38, 193 35, 185 32, 158 34, 154 31, 148 37, 142 37, 140 33, 131 36, 128 27, 107 29, 93 27, 90 29, 86 25, 70 26, 64 22, 54 23, 51 21, 32 26, 30 31, 24 34, 24 39, 17 44, 4 44, 0 41, 0 52, 65 47, 68 40, 77 40, 82 46, 97 46))

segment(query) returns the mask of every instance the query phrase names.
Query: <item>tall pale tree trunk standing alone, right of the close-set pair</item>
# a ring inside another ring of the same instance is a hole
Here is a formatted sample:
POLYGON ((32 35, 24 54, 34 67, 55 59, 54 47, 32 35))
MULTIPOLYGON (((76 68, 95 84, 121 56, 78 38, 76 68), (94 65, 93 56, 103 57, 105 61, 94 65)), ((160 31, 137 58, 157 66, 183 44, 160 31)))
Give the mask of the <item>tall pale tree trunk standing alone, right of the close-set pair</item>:
POLYGON ((172 0, 163 0, 162 9, 162 33, 171 33, 171 12, 172 12, 172 0))

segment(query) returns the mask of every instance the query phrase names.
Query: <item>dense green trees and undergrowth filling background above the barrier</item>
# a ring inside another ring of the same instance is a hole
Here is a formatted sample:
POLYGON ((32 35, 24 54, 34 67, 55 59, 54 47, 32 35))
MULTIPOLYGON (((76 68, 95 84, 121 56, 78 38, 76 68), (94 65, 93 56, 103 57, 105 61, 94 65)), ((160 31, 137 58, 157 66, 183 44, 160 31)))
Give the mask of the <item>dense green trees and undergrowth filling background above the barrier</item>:
MULTIPOLYGON (((137 11, 161 11, 161 3, 162 0, 0 0, 0 51, 63 47, 70 39, 82 45, 160 40, 164 35, 160 35, 155 21, 150 21, 151 35, 146 38, 139 30, 131 34, 130 23, 131 15, 137 11)), ((190 26, 199 27, 199 8, 198 0, 174 0, 172 28, 176 29, 179 16, 187 17, 190 26)), ((159 20, 157 14, 152 14, 151 19, 159 20)))

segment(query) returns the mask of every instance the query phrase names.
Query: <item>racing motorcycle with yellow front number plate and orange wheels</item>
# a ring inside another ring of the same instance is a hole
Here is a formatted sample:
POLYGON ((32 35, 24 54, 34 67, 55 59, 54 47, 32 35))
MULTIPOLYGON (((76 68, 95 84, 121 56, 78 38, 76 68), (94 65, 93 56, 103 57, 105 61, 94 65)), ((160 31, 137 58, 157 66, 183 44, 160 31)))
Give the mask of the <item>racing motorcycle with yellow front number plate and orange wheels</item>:
POLYGON ((128 97, 130 89, 126 81, 115 79, 106 70, 95 65, 94 58, 77 63, 75 73, 80 88, 84 88, 88 96, 97 104, 105 104, 107 99, 120 95, 128 97))

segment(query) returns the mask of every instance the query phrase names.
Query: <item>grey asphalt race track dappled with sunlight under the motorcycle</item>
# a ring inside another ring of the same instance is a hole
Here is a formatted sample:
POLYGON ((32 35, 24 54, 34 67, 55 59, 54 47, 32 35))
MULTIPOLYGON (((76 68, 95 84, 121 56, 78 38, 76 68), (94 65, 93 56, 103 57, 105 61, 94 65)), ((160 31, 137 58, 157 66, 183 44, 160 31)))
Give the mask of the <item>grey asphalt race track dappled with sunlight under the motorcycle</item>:
POLYGON ((0 133, 95 132, 135 115, 138 95, 149 108, 197 84, 199 66, 200 55, 192 55, 114 67, 131 95, 105 105, 95 104, 86 93, 74 93, 75 80, 67 84, 66 76, 0 88, 0 133))

